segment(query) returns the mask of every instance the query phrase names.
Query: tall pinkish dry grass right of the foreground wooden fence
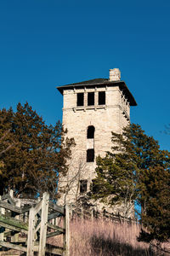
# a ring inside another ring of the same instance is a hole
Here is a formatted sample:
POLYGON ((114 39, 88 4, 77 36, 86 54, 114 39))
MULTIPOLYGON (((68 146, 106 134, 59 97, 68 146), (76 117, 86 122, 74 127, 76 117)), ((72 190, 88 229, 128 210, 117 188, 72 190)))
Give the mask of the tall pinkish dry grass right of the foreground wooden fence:
MULTIPOLYGON (((71 256, 167 255, 154 252, 148 244, 137 241, 137 236, 139 225, 136 224, 116 224, 99 219, 72 220, 71 256)), ((50 241, 56 244, 56 239, 50 241)))

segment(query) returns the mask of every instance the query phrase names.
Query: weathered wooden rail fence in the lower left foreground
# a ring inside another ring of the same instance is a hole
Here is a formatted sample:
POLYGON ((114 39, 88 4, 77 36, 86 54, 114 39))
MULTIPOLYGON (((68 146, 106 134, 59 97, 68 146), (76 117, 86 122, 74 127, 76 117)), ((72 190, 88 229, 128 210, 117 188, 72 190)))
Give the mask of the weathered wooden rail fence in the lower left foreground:
POLYGON ((20 200, 13 198, 12 191, 3 195, 0 198, 0 255, 10 255, 7 252, 11 249, 27 256, 47 253, 69 256, 69 207, 50 202, 48 193, 36 204, 23 207, 20 200), (62 227, 55 224, 59 217, 63 217, 62 227), (63 247, 47 243, 47 238, 59 235, 63 236, 63 247))

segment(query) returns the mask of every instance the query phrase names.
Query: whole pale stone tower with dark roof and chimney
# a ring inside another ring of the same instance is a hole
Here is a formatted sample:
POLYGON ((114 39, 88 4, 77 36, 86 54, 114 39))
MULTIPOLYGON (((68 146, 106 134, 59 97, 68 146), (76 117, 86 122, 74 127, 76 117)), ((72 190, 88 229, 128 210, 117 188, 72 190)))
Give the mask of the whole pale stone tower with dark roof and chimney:
POLYGON ((65 196, 59 203, 75 203, 86 195, 96 176, 95 158, 111 150, 111 131, 122 132, 130 122, 133 95, 121 81, 118 68, 110 69, 109 79, 92 79, 57 88, 63 95, 63 124, 67 137, 74 137, 68 175, 60 180, 65 196))

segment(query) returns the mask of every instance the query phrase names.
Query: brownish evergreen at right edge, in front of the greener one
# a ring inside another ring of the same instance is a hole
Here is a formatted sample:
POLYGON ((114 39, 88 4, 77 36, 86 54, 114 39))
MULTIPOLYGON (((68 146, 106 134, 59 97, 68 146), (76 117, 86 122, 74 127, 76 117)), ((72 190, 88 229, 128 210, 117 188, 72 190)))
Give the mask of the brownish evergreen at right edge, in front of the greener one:
POLYGON ((168 241, 170 238, 170 173, 163 166, 150 167, 141 176, 139 184, 144 210, 141 218, 146 229, 139 241, 168 241))

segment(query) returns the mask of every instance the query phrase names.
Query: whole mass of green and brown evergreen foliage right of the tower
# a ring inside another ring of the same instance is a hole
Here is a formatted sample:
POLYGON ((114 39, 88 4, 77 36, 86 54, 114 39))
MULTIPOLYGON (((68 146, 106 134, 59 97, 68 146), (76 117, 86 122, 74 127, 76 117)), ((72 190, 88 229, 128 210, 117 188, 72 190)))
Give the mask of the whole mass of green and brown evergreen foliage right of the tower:
POLYGON ((170 154, 147 136, 139 125, 125 127, 122 134, 112 132, 111 152, 97 158, 97 193, 94 199, 112 206, 124 206, 124 216, 132 213, 134 201, 144 230, 143 241, 167 241, 170 230, 170 154))

